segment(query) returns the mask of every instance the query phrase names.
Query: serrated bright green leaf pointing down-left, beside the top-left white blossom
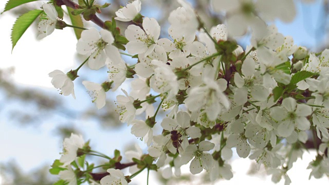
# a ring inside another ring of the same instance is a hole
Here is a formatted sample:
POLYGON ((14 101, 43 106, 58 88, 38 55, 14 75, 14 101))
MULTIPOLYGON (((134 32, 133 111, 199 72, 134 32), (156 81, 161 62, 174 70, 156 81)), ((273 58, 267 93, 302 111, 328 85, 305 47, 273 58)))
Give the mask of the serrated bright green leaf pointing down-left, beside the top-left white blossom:
POLYGON ((11 29, 12 50, 14 49, 17 41, 20 40, 21 36, 26 31, 26 29, 33 23, 36 17, 38 17, 42 12, 43 10, 31 10, 16 19, 15 24, 11 29))

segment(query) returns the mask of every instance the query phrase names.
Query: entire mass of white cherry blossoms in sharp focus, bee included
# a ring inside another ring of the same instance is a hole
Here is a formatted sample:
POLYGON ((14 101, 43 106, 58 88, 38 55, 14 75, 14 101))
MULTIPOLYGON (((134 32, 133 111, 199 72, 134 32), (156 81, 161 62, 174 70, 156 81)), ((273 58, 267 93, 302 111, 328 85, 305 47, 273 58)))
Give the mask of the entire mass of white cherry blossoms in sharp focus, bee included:
MULTIPOLYGON (((265 22, 293 20, 294 1, 213 0, 213 11, 227 20, 209 31, 189 3, 177 2, 180 7, 168 17, 168 38, 160 37, 155 18, 140 14, 139 0, 120 8, 100 30, 82 31, 77 42, 77 52, 87 56, 82 65, 108 68, 108 81, 83 85, 98 109, 104 107, 109 89, 121 89, 115 101, 119 119, 144 141, 148 153, 136 147, 125 153, 130 162, 121 163, 119 151, 108 157, 72 134, 52 165, 59 183, 127 184, 144 169, 161 171, 169 179, 173 172, 180 176, 185 164, 193 175, 205 171, 211 181, 229 180, 229 161, 236 151, 257 162, 257 169, 263 165, 273 182, 283 178, 289 184, 287 171, 309 140, 317 151, 308 166, 309 178, 329 175, 329 50, 311 53, 265 22), (131 24, 121 34, 116 21, 131 24), (251 44, 243 49, 234 36, 247 31, 251 44), (122 54, 135 64, 128 65, 122 54), (120 88, 127 78, 133 78, 131 89, 120 88), (158 115, 160 110, 165 118, 158 115), (96 167, 86 155, 108 159, 99 166, 107 170, 102 178, 92 172, 96 167), (127 167, 131 175, 120 171, 127 167)), ((44 4, 43 10, 39 39, 60 21, 52 4, 44 4)), ((73 81, 80 67, 49 73, 62 95, 76 98, 73 81)))

